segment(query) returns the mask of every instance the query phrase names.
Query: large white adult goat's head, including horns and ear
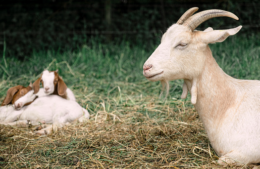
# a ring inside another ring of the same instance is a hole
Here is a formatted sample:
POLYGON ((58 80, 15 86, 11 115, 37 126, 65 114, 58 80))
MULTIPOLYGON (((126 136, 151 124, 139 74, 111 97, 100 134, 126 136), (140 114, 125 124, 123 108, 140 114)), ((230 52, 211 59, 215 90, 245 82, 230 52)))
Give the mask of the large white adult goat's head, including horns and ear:
POLYGON ((161 44, 143 65, 143 75, 148 80, 167 82, 192 79, 202 71, 206 55, 210 51, 207 44, 222 42, 242 27, 194 30, 202 22, 214 17, 227 16, 238 20, 237 16, 223 10, 206 10, 193 15, 197 10, 198 8, 189 9, 164 33, 161 44))

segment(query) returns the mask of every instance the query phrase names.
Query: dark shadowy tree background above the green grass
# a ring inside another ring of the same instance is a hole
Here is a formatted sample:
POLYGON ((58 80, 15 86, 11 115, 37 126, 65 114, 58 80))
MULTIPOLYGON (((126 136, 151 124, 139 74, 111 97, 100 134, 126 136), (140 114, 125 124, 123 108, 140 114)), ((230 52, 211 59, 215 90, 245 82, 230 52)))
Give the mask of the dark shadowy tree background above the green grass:
MULTIPOLYGON (((208 26, 228 29, 242 25, 245 34, 259 34, 260 1, 173 0, 16 0, 0 4, 0 55, 23 59, 33 50, 76 50, 91 40, 118 40, 134 45, 158 43, 162 32, 191 7, 222 9, 239 21, 214 18, 208 26)), ((198 11, 198 12, 199 12, 198 11)))

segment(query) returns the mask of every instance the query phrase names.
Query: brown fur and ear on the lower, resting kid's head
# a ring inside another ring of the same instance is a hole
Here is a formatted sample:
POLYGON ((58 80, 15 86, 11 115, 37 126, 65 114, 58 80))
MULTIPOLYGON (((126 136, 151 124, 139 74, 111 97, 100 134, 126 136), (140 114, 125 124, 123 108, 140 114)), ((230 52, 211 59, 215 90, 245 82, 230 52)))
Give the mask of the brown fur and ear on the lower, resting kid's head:
POLYGON ((21 85, 18 85, 8 89, 7 96, 2 102, 1 106, 14 104, 19 98, 23 97, 31 90, 32 90, 32 83, 30 83, 28 87, 23 87, 21 85))

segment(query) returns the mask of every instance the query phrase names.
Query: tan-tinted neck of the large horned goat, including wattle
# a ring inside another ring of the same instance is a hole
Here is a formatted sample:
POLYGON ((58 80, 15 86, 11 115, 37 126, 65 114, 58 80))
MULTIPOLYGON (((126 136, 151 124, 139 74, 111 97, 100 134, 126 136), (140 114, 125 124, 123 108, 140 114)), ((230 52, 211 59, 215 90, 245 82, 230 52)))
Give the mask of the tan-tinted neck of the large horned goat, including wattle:
POLYGON ((211 51, 206 57, 201 74, 184 80, 191 94, 191 102, 209 134, 209 128, 218 125, 228 107, 234 104, 232 81, 235 79, 219 67, 211 51))

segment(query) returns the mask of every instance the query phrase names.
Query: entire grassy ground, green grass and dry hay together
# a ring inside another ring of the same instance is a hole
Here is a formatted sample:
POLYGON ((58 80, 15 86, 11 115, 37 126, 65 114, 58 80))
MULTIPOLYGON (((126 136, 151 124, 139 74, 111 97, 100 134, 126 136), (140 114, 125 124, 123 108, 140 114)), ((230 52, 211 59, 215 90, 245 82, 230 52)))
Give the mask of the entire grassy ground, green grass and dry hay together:
MULTIPOLYGON (((259 43, 257 35, 238 33, 210 47, 227 74, 260 80, 259 43)), ((172 81, 163 99, 160 82, 143 77, 142 66, 155 48, 93 38, 74 52, 34 51, 24 61, 4 56, 1 101, 10 87, 28 86, 44 68, 59 69, 91 116, 50 136, 0 125, 0 167, 219 168, 190 95, 180 99, 182 80, 172 81)))

